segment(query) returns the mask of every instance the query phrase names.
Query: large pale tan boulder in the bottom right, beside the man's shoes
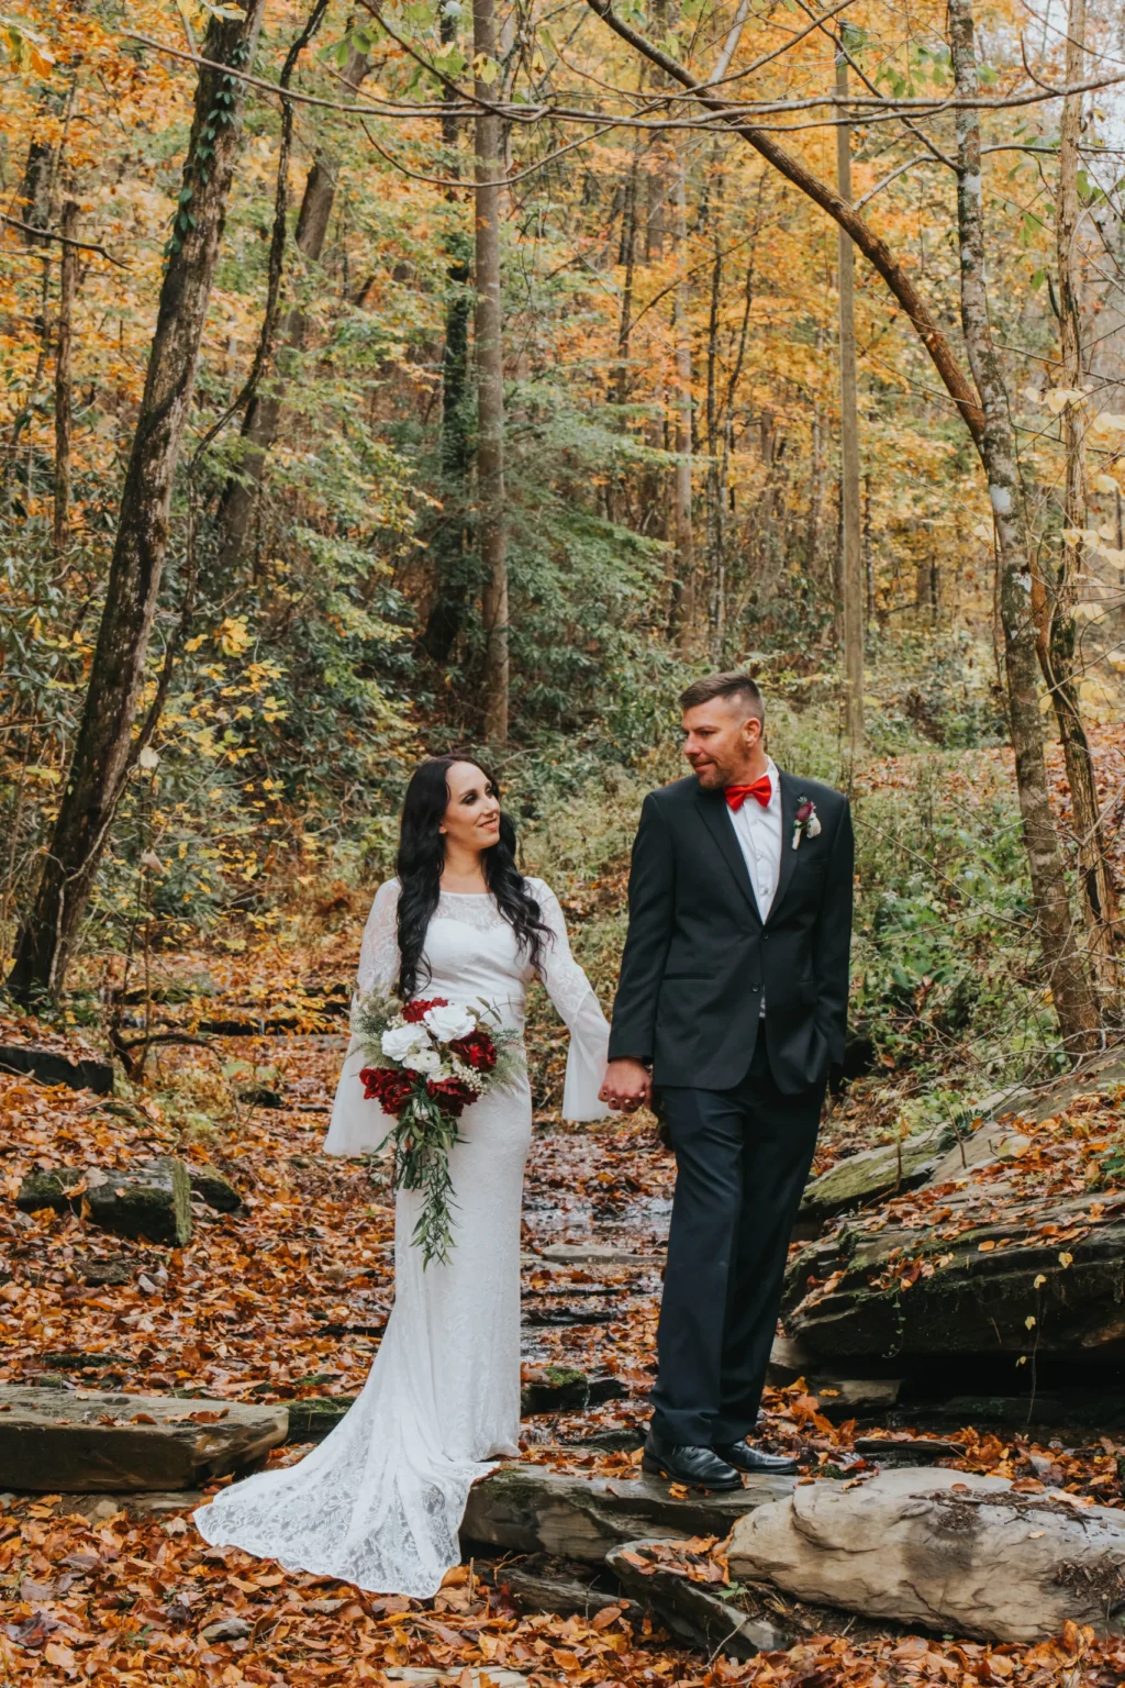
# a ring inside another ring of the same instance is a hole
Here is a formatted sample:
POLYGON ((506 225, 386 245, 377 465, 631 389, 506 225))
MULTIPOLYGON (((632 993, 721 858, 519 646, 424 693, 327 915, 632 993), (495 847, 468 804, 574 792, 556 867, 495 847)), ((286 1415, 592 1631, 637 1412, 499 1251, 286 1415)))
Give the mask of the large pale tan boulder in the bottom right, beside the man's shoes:
POLYGON ((1125 1632, 1125 1518, 1005 1477, 924 1467, 801 1484, 740 1518, 727 1558, 739 1582, 982 1641, 1046 1641, 1068 1619, 1125 1632))

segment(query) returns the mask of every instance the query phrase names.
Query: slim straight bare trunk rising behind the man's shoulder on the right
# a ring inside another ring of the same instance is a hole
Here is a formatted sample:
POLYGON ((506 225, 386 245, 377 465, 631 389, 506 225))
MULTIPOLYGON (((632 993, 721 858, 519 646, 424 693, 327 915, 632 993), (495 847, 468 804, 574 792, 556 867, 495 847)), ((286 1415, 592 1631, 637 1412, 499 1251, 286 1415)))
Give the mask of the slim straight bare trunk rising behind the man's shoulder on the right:
MULTIPOLYGON (((837 91, 847 98, 848 66, 837 59, 837 91)), ((840 110, 843 116, 843 108, 840 110)), ((852 203, 852 130, 837 125, 837 186, 852 203)), ((840 476, 842 542, 840 581, 843 586, 843 729, 848 753, 864 741, 864 557, 860 532, 860 442, 859 378, 855 371, 855 253, 852 236, 838 231, 840 252, 840 476)))

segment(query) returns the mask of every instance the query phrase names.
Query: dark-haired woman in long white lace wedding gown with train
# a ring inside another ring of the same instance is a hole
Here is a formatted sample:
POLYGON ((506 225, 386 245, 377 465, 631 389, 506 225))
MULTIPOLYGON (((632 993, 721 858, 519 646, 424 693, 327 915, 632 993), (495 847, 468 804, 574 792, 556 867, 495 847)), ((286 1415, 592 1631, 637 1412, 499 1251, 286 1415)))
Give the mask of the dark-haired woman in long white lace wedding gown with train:
MULTIPOLYGON (((514 829, 496 782, 467 756, 413 773, 398 878, 381 885, 359 952, 359 989, 484 998, 523 1030, 538 977, 570 1028, 567 1119, 600 1119, 609 1026, 570 955, 558 900, 516 868, 514 829)), ((329 1155, 378 1148, 391 1121, 364 1101, 353 1035, 326 1139, 329 1155)), ((469 1485, 519 1452, 519 1209, 531 1141, 526 1072, 474 1102, 450 1155, 449 1264, 423 1269, 412 1246, 422 1192, 395 1202, 395 1307, 351 1411, 299 1465, 223 1489, 194 1518, 288 1570, 339 1577, 374 1593, 428 1599, 460 1561, 469 1485)))

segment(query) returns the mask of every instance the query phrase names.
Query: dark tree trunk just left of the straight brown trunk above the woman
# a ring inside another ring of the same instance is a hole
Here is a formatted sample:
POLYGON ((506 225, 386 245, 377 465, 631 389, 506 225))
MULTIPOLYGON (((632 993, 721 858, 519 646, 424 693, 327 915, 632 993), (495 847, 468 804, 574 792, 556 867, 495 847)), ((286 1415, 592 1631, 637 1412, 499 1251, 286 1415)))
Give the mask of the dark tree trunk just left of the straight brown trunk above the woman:
MULTIPOLYGON (((440 14, 442 42, 457 39, 457 15, 449 8, 440 14)), ((450 86, 444 86, 447 105, 457 100, 450 86)), ((445 169, 442 174, 459 176, 457 118, 442 113, 442 145, 445 169)), ((449 204, 457 203, 457 189, 445 189, 449 204)), ((466 579, 466 511, 469 505, 469 469, 472 447, 469 442, 469 282, 472 255, 466 233, 455 230, 447 243, 449 263, 445 279, 445 346, 442 351, 442 520, 433 535, 433 603, 422 635, 422 647, 432 662, 445 667, 464 621, 469 582, 466 579)))

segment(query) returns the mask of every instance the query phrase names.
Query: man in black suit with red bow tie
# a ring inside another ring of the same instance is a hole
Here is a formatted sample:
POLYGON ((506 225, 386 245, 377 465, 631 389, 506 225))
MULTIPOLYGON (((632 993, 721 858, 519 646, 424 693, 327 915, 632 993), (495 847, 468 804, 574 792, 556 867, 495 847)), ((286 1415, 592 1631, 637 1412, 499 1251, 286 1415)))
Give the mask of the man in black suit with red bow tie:
POLYGON ((707 1489, 794 1470, 746 1442, 828 1067, 843 1058, 848 800, 779 773, 746 674, 680 699, 692 776, 651 792, 602 1099, 659 1094, 676 1195, 644 1469, 707 1489))

